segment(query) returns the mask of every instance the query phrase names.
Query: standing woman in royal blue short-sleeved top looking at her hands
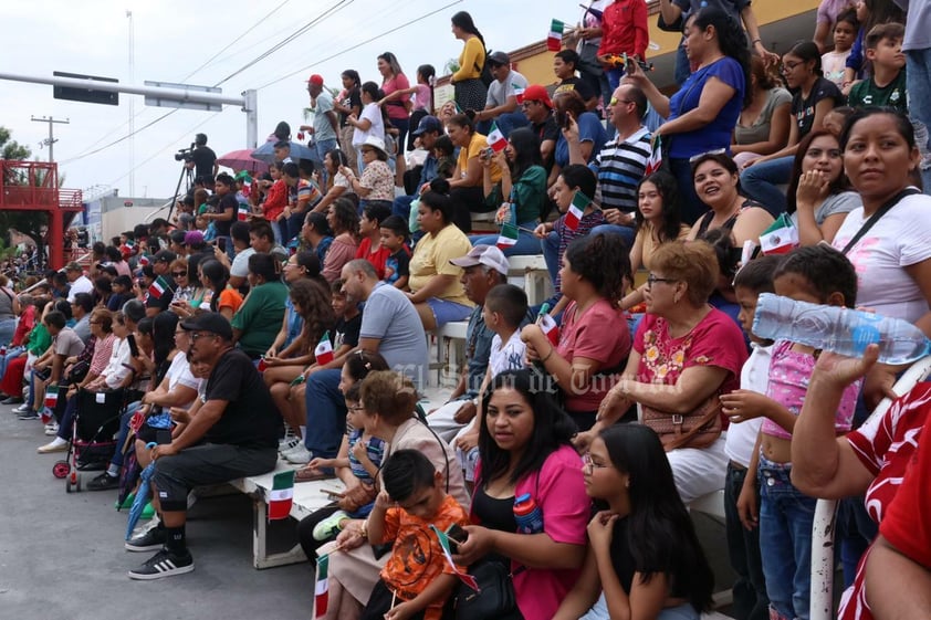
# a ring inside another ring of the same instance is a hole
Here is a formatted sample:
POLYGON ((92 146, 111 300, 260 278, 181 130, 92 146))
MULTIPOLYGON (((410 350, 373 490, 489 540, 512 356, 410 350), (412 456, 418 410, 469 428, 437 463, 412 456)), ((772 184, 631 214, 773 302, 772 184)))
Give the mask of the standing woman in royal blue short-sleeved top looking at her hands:
POLYGON ((628 80, 640 86, 653 108, 669 120, 653 136, 668 150, 670 170, 679 181, 682 220, 693 224, 704 212, 692 186, 689 158, 731 146, 731 134, 750 99, 750 50, 746 35, 731 17, 715 8, 699 10, 686 22, 684 49, 695 71, 672 97, 667 97, 634 63, 628 80))

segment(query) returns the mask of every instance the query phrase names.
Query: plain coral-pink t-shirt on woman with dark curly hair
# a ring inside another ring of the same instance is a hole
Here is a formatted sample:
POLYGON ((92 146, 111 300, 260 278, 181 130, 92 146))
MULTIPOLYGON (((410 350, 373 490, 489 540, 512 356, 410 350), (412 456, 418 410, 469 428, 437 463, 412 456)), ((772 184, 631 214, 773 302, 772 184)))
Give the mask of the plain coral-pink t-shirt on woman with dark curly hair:
MULTIPOLYGON (((606 300, 598 300, 580 316, 576 316, 576 307, 575 302, 569 303, 563 315, 559 346, 556 347, 559 355, 569 364, 576 357, 594 359, 600 362, 599 374, 620 366, 630 354, 630 330, 624 314, 606 300)), ((611 378, 623 370, 613 372, 611 378)), ((611 387, 614 380, 596 376, 582 396, 566 391, 566 409, 577 413, 595 411, 611 387)))

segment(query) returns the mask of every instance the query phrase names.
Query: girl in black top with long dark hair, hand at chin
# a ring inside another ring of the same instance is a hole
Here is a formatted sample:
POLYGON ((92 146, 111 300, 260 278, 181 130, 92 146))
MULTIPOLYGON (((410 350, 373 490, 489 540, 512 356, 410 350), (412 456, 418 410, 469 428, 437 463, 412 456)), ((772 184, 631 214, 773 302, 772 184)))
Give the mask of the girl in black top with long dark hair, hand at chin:
POLYGON ((576 620, 600 591, 610 618, 698 620, 714 575, 649 427, 605 429, 585 454, 585 490, 607 504, 588 524, 588 553, 554 620, 576 620))

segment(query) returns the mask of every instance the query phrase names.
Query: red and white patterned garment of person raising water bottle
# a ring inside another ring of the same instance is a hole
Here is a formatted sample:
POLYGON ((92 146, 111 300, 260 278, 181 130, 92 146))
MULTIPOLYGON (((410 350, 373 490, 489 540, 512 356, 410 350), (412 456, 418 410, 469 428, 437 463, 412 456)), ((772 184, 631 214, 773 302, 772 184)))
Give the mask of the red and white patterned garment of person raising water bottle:
MULTIPOLYGON (((876 476, 867 488, 865 504, 870 518, 877 523, 885 522, 883 511, 892 503, 902 484, 909 462, 918 449, 929 410, 931 382, 918 383, 909 393, 896 400, 885 416, 870 418, 862 427, 847 434, 854 454, 876 476)), ((837 612, 840 620, 872 620, 864 587, 864 566, 868 555, 869 551, 860 558, 854 585, 840 598, 837 612)))

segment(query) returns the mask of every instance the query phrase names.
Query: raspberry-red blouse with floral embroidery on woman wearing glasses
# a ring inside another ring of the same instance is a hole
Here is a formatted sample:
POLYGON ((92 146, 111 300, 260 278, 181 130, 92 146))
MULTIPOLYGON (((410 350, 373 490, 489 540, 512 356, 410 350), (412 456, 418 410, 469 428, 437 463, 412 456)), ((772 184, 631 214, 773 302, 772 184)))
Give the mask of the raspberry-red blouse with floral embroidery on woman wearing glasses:
POLYGON ((680 338, 669 336, 665 318, 644 315, 634 337, 634 350, 640 354, 638 381, 674 386, 686 368, 714 366, 728 371, 719 393, 740 388, 741 368, 747 357, 740 327, 716 308, 680 338))

